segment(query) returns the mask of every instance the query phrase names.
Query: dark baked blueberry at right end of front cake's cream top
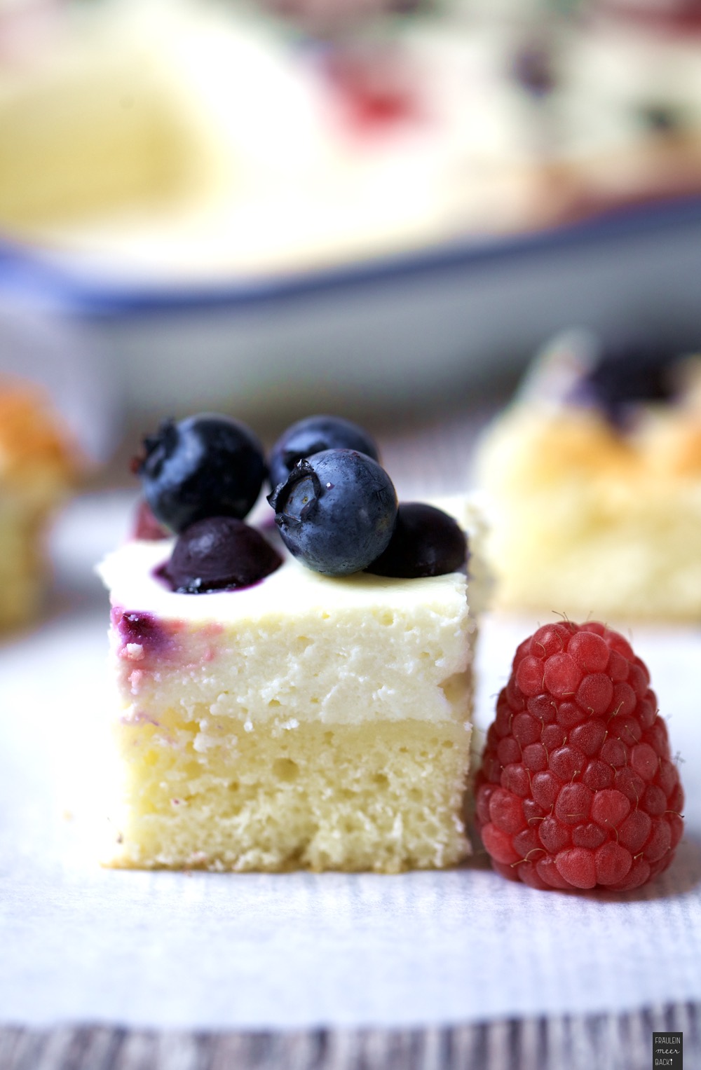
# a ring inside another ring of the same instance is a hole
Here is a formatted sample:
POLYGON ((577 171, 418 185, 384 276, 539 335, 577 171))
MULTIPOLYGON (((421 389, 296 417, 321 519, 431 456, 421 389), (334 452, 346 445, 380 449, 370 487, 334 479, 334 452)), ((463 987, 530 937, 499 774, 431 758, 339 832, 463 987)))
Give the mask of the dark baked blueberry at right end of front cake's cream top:
POLYGON ((386 550, 366 571, 415 579, 444 576, 464 567, 468 540, 447 513, 421 502, 402 502, 386 550))

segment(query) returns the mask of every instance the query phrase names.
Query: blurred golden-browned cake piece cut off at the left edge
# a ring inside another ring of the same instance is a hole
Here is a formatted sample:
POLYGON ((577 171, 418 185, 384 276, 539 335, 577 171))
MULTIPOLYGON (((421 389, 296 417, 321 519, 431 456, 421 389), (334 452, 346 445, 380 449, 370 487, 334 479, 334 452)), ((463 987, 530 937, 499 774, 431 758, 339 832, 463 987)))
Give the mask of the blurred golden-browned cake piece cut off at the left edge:
POLYGON ((46 530, 77 472, 67 432, 40 392, 0 380, 0 631, 40 611, 46 530))

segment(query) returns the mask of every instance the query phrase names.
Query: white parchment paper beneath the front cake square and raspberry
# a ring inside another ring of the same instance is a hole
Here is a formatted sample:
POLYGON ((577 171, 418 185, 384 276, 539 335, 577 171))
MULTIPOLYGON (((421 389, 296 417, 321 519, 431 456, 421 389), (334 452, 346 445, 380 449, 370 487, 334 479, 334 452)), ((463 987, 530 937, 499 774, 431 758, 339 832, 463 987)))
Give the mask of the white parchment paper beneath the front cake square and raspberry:
MULTIPOLYGON (((534 891, 483 857, 400 876, 101 869, 71 798, 104 709, 90 565, 124 517, 119 496, 75 505, 52 616, 0 645, 0 1021, 417 1026, 701 999, 699 629, 633 632, 687 795, 676 859, 639 891, 534 891)), ((537 623, 485 622, 481 724, 537 623)))

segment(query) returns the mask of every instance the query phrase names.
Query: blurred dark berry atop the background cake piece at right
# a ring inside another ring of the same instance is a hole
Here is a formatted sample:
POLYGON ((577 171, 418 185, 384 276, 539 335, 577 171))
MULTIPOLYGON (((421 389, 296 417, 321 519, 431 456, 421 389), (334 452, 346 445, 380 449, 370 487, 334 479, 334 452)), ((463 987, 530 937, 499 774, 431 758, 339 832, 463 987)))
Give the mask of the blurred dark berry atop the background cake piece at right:
POLYGON ((601 343, 572 400, 597 406, 614 427, 622 429, 636 404, 673 398, 676 356, 675 350, 647 337, 609 339, 601 343))

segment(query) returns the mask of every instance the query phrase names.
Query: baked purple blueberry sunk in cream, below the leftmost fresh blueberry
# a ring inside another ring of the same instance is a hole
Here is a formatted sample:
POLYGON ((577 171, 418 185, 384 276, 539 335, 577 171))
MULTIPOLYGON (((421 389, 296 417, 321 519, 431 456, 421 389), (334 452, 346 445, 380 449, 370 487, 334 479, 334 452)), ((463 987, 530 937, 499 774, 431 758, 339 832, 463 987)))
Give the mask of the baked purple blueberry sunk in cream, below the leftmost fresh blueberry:
POLYGON ((235 517, 207 517, 181 533, 161 575, 173 591, 202 594, 249 587, 283 559, 260 532, 235 517))

